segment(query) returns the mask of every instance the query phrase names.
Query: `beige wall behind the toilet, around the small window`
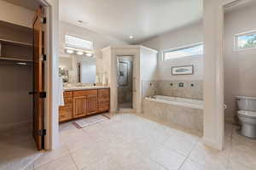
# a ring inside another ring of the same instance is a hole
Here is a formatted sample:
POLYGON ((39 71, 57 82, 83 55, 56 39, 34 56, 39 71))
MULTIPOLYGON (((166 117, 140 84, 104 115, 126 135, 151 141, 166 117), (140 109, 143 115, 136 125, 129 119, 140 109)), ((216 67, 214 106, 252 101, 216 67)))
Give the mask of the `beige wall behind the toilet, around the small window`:
POLYGON ((256 3, 235 8, 224 17, 225 119, 234 122, 236 95, 256 96, 256 49, 234 50, 234 35, 256 30, 256 3))

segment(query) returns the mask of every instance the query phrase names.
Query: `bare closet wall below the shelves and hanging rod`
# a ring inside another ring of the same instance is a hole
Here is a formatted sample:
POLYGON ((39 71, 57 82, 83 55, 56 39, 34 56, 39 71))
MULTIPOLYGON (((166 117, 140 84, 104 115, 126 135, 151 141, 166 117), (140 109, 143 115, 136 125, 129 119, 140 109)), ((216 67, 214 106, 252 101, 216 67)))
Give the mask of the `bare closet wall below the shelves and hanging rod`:
POLYGON ((32 122, 32 65, 0 65, 0 130, 32 122))

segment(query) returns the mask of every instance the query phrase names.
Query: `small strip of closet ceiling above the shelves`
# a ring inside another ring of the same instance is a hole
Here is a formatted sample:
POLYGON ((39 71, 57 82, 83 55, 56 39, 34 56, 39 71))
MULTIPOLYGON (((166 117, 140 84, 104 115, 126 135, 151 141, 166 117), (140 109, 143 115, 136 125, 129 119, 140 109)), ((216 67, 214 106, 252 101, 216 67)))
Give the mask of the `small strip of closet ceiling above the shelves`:
POLYGON ((39 2, 38 0, 3 0, 8 3, 13 3, 15 5, 31 9, 33 11, 37 10, 39 7, 39 2))

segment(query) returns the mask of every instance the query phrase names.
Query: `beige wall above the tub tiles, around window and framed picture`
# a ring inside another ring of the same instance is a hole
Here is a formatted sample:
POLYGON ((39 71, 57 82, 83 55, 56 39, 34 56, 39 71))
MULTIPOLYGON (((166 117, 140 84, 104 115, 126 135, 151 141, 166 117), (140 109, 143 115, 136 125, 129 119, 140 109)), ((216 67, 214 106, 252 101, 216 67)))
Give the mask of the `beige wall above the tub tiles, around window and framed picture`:
POLYGON ((185 26, 176 31, 154 37, 142 44, 148 48, 158 50, 158 80, 202 80, 203 79, 203 57, 187 57, 183 59, 170 59, 162 61, 161 52, 165 49, 182 47, 196 42, 203 42, 203 26, 202 23, 195 23, 185 26), (172 66, 177 65, 194 65, 195 74, 190 76, 172 76, 172 66))

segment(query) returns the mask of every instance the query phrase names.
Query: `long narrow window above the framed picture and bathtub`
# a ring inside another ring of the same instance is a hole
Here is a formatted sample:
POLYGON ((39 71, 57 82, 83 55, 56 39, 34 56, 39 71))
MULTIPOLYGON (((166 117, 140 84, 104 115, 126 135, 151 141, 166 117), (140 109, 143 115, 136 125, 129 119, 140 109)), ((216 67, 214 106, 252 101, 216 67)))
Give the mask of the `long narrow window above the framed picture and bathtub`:
POLYGON ((163 52, 163 59, 177 59, 203 54, 203 43, 196 43, 182 48, 173 48, 163 52))

